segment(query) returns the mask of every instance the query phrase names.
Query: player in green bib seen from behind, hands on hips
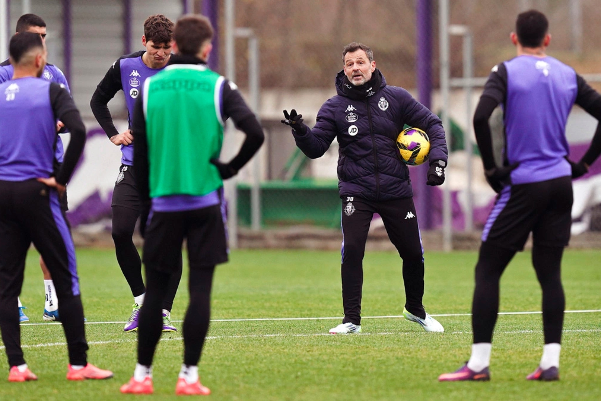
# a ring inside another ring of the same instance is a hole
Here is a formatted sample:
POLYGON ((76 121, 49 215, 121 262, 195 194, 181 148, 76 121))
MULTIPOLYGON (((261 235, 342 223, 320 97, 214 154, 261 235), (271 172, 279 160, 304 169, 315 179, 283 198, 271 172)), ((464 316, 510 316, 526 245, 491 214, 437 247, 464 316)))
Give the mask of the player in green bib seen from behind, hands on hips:
MULTIPOLYGON (((183 16, 165 70, 144 82, 133 115, 133 168, 141 200, 151 200, 142 261, 144 307, 139 318, 138 364, 122 393, 153 392, 151 364, 159 341, 161 302, 188 240, 190 303, 183 323, 184 363, 176 394, 209 394, 198 379, 198 361, 209 329, 215 265, 227 262, 223 179, 234 176, 263 143, 257 118, 236 85, 206 65, 213 28, 204 16, 183 16), (218 161, 223 124, 232 118, 246 134, 239 153, 218 161)), ((142 222, 143 223, 143 222, 142 222)))

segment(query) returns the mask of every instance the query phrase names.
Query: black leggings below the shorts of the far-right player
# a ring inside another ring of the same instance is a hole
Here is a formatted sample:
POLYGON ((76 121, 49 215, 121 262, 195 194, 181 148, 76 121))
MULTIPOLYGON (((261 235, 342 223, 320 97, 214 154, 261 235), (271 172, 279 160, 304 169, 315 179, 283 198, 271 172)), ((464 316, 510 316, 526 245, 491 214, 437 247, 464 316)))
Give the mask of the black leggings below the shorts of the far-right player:
MULTIPOLYGON (((532 264, 543 291, 545 344, 561 343, 566 298, 561 286, 561 247, 534 245, 532 264)), ((491 343, 499 312, 499 280, 516 251, 483 242, 472 303, 474 343, 491 343)))

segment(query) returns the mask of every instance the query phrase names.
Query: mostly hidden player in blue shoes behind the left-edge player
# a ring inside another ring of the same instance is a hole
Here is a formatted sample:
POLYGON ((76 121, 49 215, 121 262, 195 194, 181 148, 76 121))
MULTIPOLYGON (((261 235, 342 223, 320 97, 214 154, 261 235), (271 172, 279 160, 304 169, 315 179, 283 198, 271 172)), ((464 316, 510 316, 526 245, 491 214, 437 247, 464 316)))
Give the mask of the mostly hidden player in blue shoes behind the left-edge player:
MULTIPOLYGON (((19 20, 17 20, 16 33, 19 34, 22 32, 32 32, 35 34, 39 34, 41 36, 42 41, 46 43, 46 22, 44 22, 44 20, 41 19, 41 17, 35 14, 23 14, 19 17, 19 20)), ((14 68, 10 64, 9 60, 5 60, 2 63, 0 63, 0 83, 13 79, 13 73, 14 68)), ((52 64, 46 64, 46 66, 44 66, 44 70, 40 78, 45 79, 46 81, 56 82, 56 84, 61 85, 61 87, 69 91, 69 84, 67 83, 67 79, 65 78, 63 72, 58 67, 53 66, 52 64)), ((56 129, 59 130, 59 133, 66 132, 66 130, 64 130, 63 128, 63 123, 58 121, 57 124, 58 125, 56 129)), ((63 141, 61 141, 61 138, 59 136, 58 141, 56 141, 56 148, 54 154, 56 161, 55 170, 57 170, 63 163, 63 154, 63 141)), ((63 197, 61 197, 60 201, 61 208, 64 211, 69 210, 69 207, 67 206, 66 193, 63 197)), ((48 271, 44 260, 41 259, 41 257, 40 266, 41 271, 44 274, 44 292, 46 292, 46 302, 44 304, 44 313, 42 315, 42 318, 44 320, 49 321, 60 321, 60 317, 58 314, 58 298, 56 297, 54 283, 52 281, 52 277, 50 276, 50 272, 48 271)), ((20 321, 22 323, 29 322, 29 317, 25 315, 23 309, 25 309, 25 307, 21 304, 21 301, 19 299, 20 321)))

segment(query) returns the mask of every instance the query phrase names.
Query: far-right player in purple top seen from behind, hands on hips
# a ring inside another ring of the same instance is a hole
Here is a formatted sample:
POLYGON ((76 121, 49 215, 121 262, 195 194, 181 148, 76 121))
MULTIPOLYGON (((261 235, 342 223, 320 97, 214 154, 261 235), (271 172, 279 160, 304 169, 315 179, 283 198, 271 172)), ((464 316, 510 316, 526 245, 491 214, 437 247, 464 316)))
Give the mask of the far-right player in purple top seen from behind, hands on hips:
POLYGON ((559 379, 566 300, 561 257, 572 225, 572 179, 588 171, 601 152, 601 124, 578 163, 568 159, 566 121, 573 105, 601 121, 601 95, 566 64, 546 55, 549 23, 536 10, 517 16, 511 41, 517 57, 493 67, 474 115, 486 179, 499 194, 484 226, 472 302, 474 342, 468 363, 439 381, 486 381, 499 311, 499 280, 532 233, 532 265, 543 293, 545 345, 528 380, 559 379), (504 112, 505 147, 495 164, 489 117, 504 112))

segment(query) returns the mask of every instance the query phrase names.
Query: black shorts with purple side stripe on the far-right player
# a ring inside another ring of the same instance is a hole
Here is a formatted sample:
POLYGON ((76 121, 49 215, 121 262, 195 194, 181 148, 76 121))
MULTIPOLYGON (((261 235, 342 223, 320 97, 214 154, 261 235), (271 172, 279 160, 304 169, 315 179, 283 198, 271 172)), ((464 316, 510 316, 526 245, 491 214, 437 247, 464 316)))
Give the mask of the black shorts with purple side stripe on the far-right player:
POLYGON ((505 186, 484 225, 482 242, 521 251, 532 232, 535 245, 567 246, 572 203, 571 177, 505 186))

